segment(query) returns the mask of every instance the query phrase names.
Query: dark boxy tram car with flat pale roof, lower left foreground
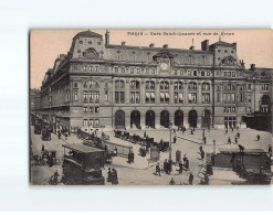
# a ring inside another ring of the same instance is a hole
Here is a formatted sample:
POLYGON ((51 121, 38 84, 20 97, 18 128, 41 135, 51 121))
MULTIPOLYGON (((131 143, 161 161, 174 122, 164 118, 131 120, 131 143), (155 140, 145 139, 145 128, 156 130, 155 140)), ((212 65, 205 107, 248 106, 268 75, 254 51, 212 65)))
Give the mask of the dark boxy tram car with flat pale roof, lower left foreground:
POLYGON ((63 178, 66 185, 104 185, 104 150, 85 144, 63 144, 63 178))

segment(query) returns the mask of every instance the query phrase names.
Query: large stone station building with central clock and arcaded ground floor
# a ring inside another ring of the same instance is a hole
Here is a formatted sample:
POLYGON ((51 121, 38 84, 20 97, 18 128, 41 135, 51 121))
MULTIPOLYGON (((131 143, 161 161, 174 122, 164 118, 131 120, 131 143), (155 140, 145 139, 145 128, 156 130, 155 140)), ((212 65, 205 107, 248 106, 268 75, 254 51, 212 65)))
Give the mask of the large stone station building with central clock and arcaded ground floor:
POLYGON ((84 31, 45 73, 40 114, 72 129, 242 126, 242 116, 271 111, 271 74, 246 69, 237 43, 113 45, 108 31, 84 31))

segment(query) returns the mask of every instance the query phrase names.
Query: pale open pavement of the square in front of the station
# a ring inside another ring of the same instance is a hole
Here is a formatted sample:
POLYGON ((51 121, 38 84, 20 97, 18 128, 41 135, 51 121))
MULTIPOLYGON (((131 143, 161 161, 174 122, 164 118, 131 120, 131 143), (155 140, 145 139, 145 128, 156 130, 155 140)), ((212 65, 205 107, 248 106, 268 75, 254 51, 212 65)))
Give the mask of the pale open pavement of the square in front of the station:
MULTIPOLYGON (((144 130, 127 130, 130 135, 144 136, 144 130)), ((213 152, 213 140, 216 140, 216 152, 219 152, 219 148, 225 149, 238 149, 238 144, 234 143, 234 138, 237 136, 237 130, 233 132, 231 130, 225 135, 224 130, 211 129, 210 131, 206 130, 204 135, 207 138, 207 144, 203 144, 203 150, 207 153, 213 152), (228 138, 231 138, 232 144, 227 144, 228 138)), ((240 139, 238 140, 239 144, 242 144, 245 149, 263 149, 267 151, 269 144, 272 144, 272 135, 264 131, 258 131, 252 129, 239 129, 240 139), (261 140, 256 141, 256 136, 261 136, 261 140)), ((147 129, 146 133, 154 138, 156 142, 159 142, 161 139, 164 141, 169 141, 170 131, 169 129, 147 129)), ((114 133, 108 131, 106 135, 109 136, 109 141, 132 146, 135 153, 135 162, 128 163, 127 158, 115 157, 112 164, 105 164, 103 169, 103 176, 105 176, 105 184, 111 185, 106 182, 107 170, 108 168, 115 168, 117 170, 119 185, 169 185, 171 178, 175 180, 176 184, 188 184, 189 172, 193 174, 193 185, 198 185, 200 179, 203 176, 200 172, 203 171, 202 164, 206 164, 206 159, 202 161, 199 154, 199 147, 202 143, 202 133, 203 131, 197 129, 193 135, 190 135, 190 131, 174 131, 171 132, 171 139, 174 136, 177 136, 177 142, 171 144, 171 154, 172 160, 176 159, 176 151, 180 150, 181 154, 186 154, 189 159, 189 171, 183 171, 181 174, 178 173, 178 165, 172 165, 172 171, 168 175, 165 172, 161 172, 161 176, 155 175, 156 163, 149 161, 150 154, 146 157, 140 157, 138 150, 141 146, 133 144, 132 142, 124 141, 114 137, 114 133)), ((99 133, 98 133, 99 135, 99 133)), ((40 154, 42 144, 44 144, 46 150, 56 150, 57 158, 62 162, 63 148, 62 144, 65 143, 75 143, 82 144, 82 140, 78 139, 75 135, 71 135, 67 140, 59 139, 55 135, 52 133, 51 141, 43 141, 41 135, 34 135, 33 127, 31 127, 31 142, 33 154, 40 154)), ((169 158, 169 151, 160 152, 159 163, 162 165, 164 161, 169 158)), ((60 175, 62 175, 62 165, 53 165, 52 168, 48 165, 31 165, 31 181, 32 184, 45 185, 50 176, 57 170, 60 175)), ((240 179, 233 171, 227 169, 216 169, 213 168, 213 175, 210 176, 210 184, 214 185, 229 185, 229 184, 244 184, 244 180, 240 179)))

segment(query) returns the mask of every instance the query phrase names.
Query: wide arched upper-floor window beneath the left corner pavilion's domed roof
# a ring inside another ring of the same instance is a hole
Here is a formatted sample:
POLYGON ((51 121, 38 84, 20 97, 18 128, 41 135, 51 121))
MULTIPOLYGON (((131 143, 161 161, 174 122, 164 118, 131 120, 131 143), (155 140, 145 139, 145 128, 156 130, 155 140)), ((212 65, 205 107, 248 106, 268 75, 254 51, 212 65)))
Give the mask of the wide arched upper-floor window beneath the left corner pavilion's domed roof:
POLYGON ((83 103, 98 104, 99 103, 99 85, 95 80, 87 80, 83 85, 83 103))

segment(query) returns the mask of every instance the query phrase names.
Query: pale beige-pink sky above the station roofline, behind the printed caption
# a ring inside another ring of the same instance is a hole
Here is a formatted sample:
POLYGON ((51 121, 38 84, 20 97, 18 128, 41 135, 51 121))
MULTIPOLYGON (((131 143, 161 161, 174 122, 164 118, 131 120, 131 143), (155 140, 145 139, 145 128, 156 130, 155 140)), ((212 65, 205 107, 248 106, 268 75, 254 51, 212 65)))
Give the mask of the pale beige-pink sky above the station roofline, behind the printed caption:
MULTIPOLYGON (((30 84, 31 88, 40 88, 44 74, 54 66, 54 61, 60 54, 67 54, 72 39, 75 34, 87 29, 73 30, 32 30, 30 32, 30 84)), ((105 29, 90 29, 93 32, 104 35, 105 29)), ((171 49, 189 49, 193 45, 201 50, 201 42, 209 40, 216 43, 219 40, 233 43, 237 42, 237 51, 240 60, 243 60, 245 67, 255 64, 256 67, 273 68, 273 31, 272 30, 118 30, 109 29, 109 43, 126 45, 148 46, 155 43, 156 47, 168 44, 171 49), (170 35, 171 33, 178 35, 170 35), (143 33, 143 35, 139 35, 143 33), (160 35, 158 35, 160 33, 160 35), (164 35, 167 33, 168 35, 164 35), (195 33, 195 35, 192 35, 195 33), (224 35, 221 35, 224 33, 224 35), (179 35, 180 34, 180 35, 179 35), (185 35, 191 34, 191 35, 185 35), (221 35, 221 36, 220 36, 221 35)))

